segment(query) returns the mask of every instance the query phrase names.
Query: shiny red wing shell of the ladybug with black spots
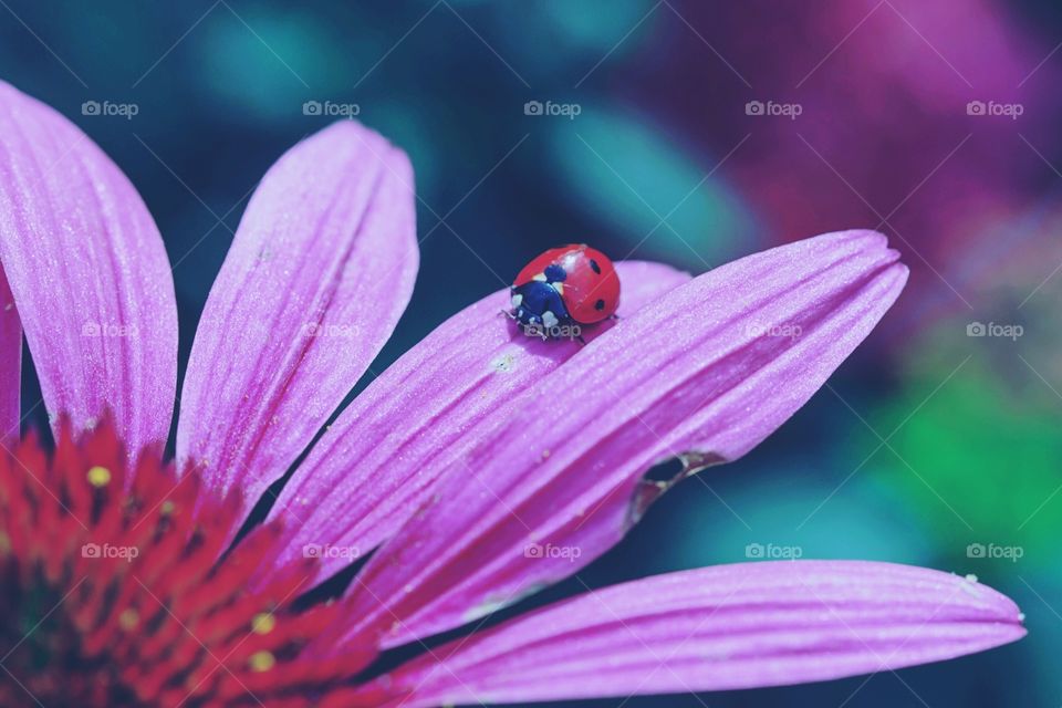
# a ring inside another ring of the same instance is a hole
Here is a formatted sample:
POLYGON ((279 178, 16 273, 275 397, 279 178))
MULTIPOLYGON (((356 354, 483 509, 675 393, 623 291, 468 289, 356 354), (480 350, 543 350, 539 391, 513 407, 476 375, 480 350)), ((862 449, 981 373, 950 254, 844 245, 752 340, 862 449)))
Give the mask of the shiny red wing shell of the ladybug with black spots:
POLYGON ((601 322, 620 306, 620 277, 612 260, 585 243, 545 251, 524 266, 512 284, 519 288, 543 277, 560 291, 569 315, 580 324, 601 322), (558 278, 560 271, 551 266, 560 267, 563 278, 558 278))

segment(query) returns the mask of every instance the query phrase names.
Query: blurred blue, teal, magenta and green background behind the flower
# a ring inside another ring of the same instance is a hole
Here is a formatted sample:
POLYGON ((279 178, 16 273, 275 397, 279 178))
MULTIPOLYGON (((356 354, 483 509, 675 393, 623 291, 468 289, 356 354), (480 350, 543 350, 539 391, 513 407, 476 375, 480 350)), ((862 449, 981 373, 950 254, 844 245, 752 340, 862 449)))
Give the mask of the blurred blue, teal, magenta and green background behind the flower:
POLYGON ((700 273, 884 231, 910 284, 830 386, 581 577, 896 561, 976 574, 1029 636, 870 679, 622 705, 1062 702, 1059 3, 0 6, 0 76, 98 142, 158 221, 181 366, 260 176, 352 115, 409 153, 420 197, 417 290, 375 371, 558 243, 700 273))

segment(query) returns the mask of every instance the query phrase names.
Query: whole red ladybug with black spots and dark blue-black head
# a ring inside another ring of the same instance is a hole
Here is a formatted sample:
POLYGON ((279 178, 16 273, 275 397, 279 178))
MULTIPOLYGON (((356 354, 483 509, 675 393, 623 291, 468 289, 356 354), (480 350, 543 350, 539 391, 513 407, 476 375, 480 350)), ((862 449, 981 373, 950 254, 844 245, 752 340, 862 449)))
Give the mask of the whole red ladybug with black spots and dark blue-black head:
POLYGON ((607 256, 585 243, 551 248, 517 274, 509 316, 524 332, 549 337, 580 336, 580 326, 613 316, 620 306, 620 277, 607 256))

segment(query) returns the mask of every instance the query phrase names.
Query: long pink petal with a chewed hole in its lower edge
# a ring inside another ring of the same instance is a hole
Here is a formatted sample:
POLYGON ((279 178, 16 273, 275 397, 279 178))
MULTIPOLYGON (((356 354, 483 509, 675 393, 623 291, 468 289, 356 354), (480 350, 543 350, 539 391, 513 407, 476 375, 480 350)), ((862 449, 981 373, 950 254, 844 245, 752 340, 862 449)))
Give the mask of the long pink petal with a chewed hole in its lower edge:
POLYGON ((469 433, 477 446, 356 579, 350 634, 441 632, 601 555, 660 493, 641 481, 655 462, 736 459, 800 408, 899 294, 896 261, 878 233, 825 235, 621 320, 469 433))

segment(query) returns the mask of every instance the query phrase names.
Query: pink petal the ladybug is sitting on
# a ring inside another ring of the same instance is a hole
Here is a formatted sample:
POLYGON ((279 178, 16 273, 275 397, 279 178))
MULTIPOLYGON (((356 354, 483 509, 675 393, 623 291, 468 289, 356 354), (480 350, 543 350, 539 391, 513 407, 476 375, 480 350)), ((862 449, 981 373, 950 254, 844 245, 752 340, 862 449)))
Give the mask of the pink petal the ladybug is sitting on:
MULTIPOLYGON (((689 275, 644 261, 618 263, 620 315, 629 316, 689 275)), ((496 292, 439 325, 376 378, 314 446, 284 487, 272 517, 288 516, 281 561, 303 549, 322 552, 329 575, 398 530, 424 502, 431 482, 477 441, 480 421, 514 415, 507 404, 579 353, 576 342, 529 340, 501 312, 496 292)), ((611 326, 587 329, 593 339, 611 326)))

